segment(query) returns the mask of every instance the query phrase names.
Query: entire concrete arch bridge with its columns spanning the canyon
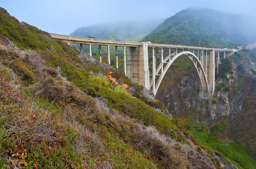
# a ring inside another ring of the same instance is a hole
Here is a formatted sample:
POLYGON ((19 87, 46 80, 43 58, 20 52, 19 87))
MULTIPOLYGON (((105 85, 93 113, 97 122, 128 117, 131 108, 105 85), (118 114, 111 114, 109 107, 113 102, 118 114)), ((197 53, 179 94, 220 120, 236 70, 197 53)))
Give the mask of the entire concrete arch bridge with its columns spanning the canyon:
POLYGON ((235 51, 237 51, 234 49, 223 48, 206 48, 147 42, 113 41, 106 39, 74 37, 71 35, 53 33, 50 33, 50 35, 53 39, 58 39, 59 41, 66 42, 69 45, 70 43, 79 43, 81 52, 83 49, 83 44, 89 45, 90 56, 92 56, 91 46, 99 45, 100 62, 101 55, 108 55, 108 64, 110 64, 109 46, 116 46, 117 68, 118 55, 120 55, 117 54, 117 47, 123 47, 122 55, 125 75, 127 75, 127 77, 129 77, 133 82, 137 82, 142 84, 147 89, 151 89, 154 95, 156 95, 160 83, 164 78, 165 73, 167 73, 169 66, 173 63, 174 60, 183 55, 187 56, 197 69, 197 73, 200 79, 199 96, 203 99, 209 99, 215 90, 215 66, 218 73, 220 57, 223 56, 225 58, 225 56, 233 54, 235 51), (108 46, 108 54, 101 54, 101 46, 108 46), (149 48, 152 50, 152 54, 150 54, 152 57, 150 57, 148 54, 149 48), (166 57, 164 57, 164 48, 169 48, 169 55, 166 57), (215 55, 215 52, 217 55, 215 55), (157 63, 156 55, 160 55, 160 63, 157 63), (152 58, 151 74, 149 70, 149 58, 152 58), (217 63, 217 65, 215 65, 215 63, 217 63), (159 65, 156 68, 157 64, 159 65))

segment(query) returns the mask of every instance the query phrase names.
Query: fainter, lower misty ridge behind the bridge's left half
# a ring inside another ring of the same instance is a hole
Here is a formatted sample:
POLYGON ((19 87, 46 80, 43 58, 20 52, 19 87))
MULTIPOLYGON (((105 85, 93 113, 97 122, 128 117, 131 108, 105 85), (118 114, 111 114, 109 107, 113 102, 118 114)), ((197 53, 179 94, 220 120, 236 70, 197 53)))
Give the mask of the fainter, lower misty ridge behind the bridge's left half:
POLYGON ((78 37, 96 37, 99 39, 120 39, 138 42, 164 20, 118 21, 116 23, 97 24, 76 29, 70 35, 78 37))

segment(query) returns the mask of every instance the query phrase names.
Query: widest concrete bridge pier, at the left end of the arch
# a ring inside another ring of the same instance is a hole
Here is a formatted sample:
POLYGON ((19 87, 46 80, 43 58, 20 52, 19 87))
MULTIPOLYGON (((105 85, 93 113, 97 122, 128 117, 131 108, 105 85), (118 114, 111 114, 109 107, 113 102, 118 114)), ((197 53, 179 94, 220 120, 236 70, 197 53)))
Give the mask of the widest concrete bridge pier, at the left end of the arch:
POLYGON ((127 77, 133 82, 150 89, 148 47, 146 42, 142 42, 142 45, 139 46, 139 54, 136 54, 136 47, 127 47, 127 77))

